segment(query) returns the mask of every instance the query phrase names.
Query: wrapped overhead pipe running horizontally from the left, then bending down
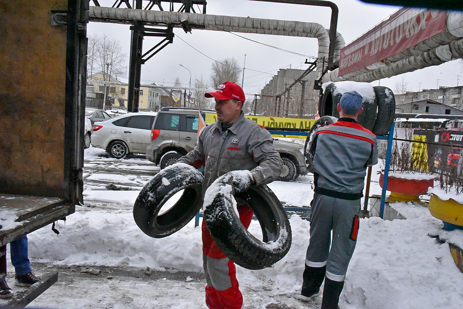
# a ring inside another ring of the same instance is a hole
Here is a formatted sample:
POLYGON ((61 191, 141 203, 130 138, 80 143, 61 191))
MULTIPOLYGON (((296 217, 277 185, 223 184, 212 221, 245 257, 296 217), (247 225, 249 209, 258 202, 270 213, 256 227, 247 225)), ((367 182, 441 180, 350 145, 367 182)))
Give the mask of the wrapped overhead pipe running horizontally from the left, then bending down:
MULTIPOLYGON (((188 23, 188 26, 192 29, 317 38, 319 44, 317 57, 319 59, 328 58, 330 45, 326 29, 320 24, 309 22, 137 10, 105 6, 90 6, 89 17, 93 21, 110 20, 113 23, 121 24, 131 24, 134 20, 140 20, 158 25, 171 24, 174 27, 181 28, 182 25, 188 23)), ((321 75, 321 68, 322 66, 317 66, 319 75, 321 75)))

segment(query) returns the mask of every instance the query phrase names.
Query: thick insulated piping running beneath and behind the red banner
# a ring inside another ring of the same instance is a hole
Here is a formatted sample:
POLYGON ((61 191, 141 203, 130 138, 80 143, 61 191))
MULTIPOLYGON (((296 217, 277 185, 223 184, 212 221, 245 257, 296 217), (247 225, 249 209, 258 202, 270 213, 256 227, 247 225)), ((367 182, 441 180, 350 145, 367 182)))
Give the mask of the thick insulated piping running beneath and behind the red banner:
POLYGON ((463 13, 447 12, 444 32, 428 38, 378 63, 338 76, 338 69, 323 76, 322 82, 373 82, 382 78, 424 69, 463 57, 463 13))

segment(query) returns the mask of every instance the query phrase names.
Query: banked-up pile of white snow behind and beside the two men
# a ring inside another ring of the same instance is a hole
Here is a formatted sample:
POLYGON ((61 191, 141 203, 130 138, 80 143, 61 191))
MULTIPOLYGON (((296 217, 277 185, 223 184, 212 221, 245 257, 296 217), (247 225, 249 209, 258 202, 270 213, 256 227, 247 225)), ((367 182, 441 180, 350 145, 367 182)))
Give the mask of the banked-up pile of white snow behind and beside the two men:
MULTIPOLYGON (((240 285, 256 286, 266 278, 269 295, 300 293, 309 222, 293 215, 290 223, 293 244, 288 254, 274 267, 259 271, 237 266, 240 285)), ((163 239, 144 235, 127 211, 77 212, 56 227, 59 235, 50 228, 29 235, 31 258, 63 264, 202 269, 200 227, 192 223, 163 239)), ((449 246, 428 236, 438 234, 441 227, 441 221, 429 214, 394 221, 362 219, 341 304, 351 309, 462 308, 463 276, 449 246), (350 304, 343 303, 347 301, 350 304)), ((254 235, 259 232, 257 221, 252 221, 249 230, 254 235)), ((452 236, 461 240, 463 233, 452 236)))

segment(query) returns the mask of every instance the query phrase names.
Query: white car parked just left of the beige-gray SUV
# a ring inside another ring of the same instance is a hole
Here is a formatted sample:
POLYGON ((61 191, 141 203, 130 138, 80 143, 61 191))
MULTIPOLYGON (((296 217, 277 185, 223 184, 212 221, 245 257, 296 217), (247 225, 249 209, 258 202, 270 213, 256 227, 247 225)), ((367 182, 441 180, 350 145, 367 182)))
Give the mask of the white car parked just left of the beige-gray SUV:
POLYGON ((129 153, 146 153, 156 113, 129 113, 95 122, 92 146, 106 150, 113 158, 129 153))

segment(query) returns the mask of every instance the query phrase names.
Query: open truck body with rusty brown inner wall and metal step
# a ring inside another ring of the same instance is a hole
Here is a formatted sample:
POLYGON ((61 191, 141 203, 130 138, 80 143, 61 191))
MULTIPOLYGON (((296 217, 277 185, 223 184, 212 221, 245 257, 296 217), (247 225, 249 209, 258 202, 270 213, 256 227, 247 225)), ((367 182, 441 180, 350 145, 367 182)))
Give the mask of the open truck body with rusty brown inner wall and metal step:
MULTIPOLYGON (((0 7, 0 204, 13 214, 0 217, 5 252, 83 202, 88 0, 0 0, 0 7)), ((44 276, 6 306, 23 308, 56 280, 44 276)))

